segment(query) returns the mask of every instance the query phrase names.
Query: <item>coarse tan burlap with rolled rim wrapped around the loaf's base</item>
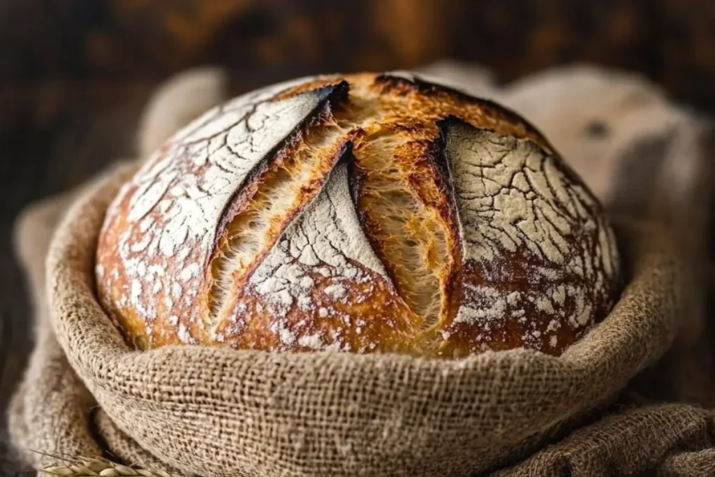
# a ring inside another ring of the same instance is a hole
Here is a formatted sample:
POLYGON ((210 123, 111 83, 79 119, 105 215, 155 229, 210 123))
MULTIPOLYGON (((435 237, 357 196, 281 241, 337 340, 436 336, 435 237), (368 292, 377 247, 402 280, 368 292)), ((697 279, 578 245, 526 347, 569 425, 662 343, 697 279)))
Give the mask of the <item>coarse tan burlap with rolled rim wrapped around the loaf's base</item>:
POLYGON ((632 277, 611 315, 560 358, 464 360, 171 346, 139 353, 94 296, 104 211, 136 170, 74 203, 47 260, 61 347, 117 426, 160 460, 211 476, 462 475, 592 408, 676 335, 678 261, 661 230, 623 225, 632 277))

